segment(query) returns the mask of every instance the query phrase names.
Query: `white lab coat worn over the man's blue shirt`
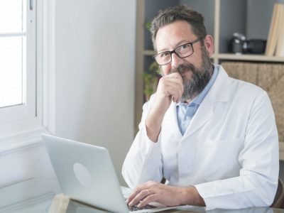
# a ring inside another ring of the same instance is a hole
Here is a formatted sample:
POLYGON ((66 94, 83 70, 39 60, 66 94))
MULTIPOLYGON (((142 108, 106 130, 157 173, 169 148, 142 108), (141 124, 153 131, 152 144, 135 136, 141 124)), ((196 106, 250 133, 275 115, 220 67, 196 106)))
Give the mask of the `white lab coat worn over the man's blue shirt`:
POLYGON ((190 126, 181 135, 176 104, 165 114, 157 143, 146 134, 153 95, 143 106, 139 132, 122 174, 129 187, 165 177, 195 185, 207 209, 264 207, 278 185, 278 133, 267 93, 228 77, 222 66, 190 126))

